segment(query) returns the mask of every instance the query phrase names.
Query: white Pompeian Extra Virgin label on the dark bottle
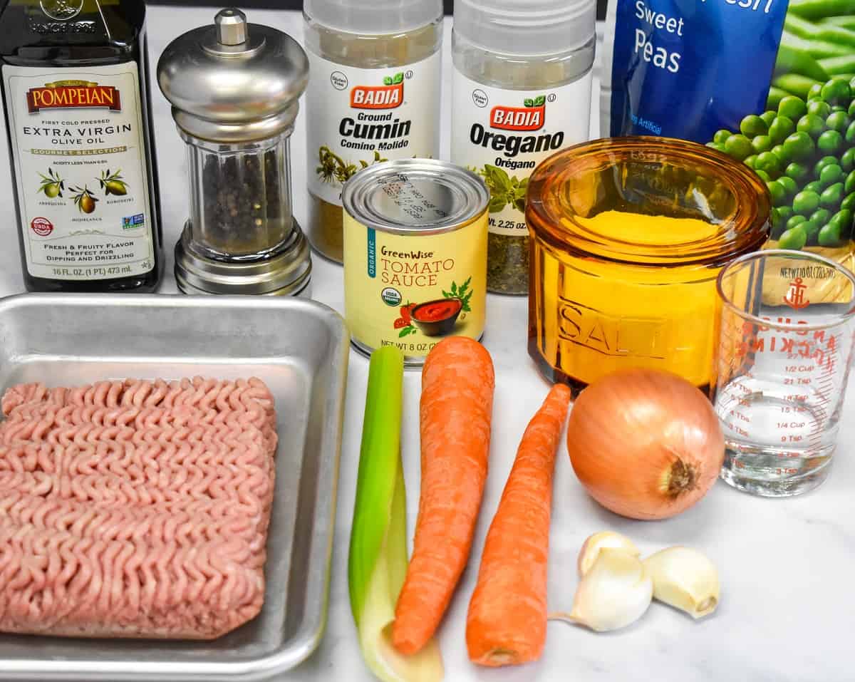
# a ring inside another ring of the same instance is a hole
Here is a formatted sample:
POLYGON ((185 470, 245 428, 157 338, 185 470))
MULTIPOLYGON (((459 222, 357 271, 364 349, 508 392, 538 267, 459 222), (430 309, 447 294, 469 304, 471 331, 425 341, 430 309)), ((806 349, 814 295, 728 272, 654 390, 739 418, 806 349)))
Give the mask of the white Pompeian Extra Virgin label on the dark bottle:
POLYGON ((137 64, 3 66, 27 271, 131 277, 155 267, 137 64))

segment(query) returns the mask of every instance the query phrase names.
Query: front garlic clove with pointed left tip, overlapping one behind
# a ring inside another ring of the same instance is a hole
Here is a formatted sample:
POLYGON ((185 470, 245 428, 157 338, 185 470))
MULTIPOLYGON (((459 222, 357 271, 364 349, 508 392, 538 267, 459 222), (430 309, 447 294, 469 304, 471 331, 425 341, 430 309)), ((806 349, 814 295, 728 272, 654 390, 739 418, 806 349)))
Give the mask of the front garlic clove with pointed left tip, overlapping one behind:
POLYGON ((640 559, 605 547, 581 579, 569 619, 597 632, 617 630, 639 620, 652 597, 653 581, 640 559))

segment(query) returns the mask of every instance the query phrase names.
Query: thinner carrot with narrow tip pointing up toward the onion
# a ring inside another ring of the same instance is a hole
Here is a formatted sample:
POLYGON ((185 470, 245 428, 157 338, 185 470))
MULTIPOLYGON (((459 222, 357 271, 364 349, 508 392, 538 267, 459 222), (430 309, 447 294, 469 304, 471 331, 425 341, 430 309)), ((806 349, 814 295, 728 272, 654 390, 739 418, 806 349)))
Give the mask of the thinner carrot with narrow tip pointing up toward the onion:
POLYGON ((479 665, 528 663, 543 652, 552 470, 569 403, 569 388, 555 385, 528 423, 487 532, 466 621, 469 659, 479 665))

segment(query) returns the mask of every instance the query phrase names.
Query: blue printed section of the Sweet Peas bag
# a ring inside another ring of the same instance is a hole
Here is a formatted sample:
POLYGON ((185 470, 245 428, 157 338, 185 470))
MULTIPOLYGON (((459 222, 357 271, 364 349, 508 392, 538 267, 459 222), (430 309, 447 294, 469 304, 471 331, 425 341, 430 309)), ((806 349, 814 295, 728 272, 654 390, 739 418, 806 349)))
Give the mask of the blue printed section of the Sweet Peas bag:
POLYGON ((612 0, 604 134, 706 143, 765 108, 786 0, 612 0))

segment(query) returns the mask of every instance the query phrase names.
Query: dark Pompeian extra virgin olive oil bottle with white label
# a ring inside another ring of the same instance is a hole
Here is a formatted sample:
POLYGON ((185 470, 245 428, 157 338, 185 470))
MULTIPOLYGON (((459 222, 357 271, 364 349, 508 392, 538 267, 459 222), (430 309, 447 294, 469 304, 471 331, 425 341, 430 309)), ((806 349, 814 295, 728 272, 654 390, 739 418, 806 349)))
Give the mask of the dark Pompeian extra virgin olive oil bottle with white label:
POLYGON ((162 233, 141 0, 0 0, 29 291, 153 291, 162 233))

